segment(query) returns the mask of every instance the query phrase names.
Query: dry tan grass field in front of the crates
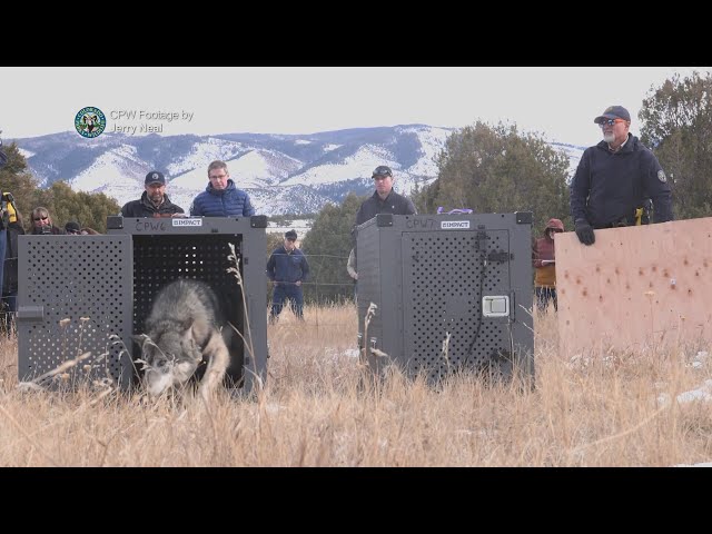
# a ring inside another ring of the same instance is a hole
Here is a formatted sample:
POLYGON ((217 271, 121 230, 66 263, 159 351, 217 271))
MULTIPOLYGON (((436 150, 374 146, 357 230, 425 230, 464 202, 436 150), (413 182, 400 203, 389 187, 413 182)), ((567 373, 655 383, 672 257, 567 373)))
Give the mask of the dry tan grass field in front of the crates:
MULTIPOLYGON (((147 402, 112 389, 18 388, 17 339, 0 342, 0 466, 671 466, 712 459, 710 347, 557 354, 535 317, 536 388, 366 380, 356 309, 286 310, 270 325, 268 380, 147 402), (705 380, 710 380, 705 384, 705 380), (691 402, 688 402, 691 400, 691 402)), ((368 376, 368 375, 366 375, 368 376)))

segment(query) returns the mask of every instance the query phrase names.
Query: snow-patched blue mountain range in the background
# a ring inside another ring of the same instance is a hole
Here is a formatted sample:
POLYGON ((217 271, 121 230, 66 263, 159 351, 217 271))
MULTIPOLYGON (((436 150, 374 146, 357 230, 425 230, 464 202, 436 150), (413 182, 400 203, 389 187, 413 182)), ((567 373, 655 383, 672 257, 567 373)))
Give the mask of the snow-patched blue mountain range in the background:
MULTIPOLYGON (((93 139, 63 132, 16 141, 42 187, 65 180, 119 205, 138 198, 146 174, 158 169, 166 174, 170 199, 188 210, 208 184, 208 165, 221 159, 259 214, 279 215, 315 212, 350 191, 370 194, 370 174, 378 165, 393 168, 398 192, 429 184, 437 175, 435 158, 453 130, 406 125, 301 136, 105 134, 93 139)), ((552 146, 565 151, 573 172, 583 147, 552 146)))

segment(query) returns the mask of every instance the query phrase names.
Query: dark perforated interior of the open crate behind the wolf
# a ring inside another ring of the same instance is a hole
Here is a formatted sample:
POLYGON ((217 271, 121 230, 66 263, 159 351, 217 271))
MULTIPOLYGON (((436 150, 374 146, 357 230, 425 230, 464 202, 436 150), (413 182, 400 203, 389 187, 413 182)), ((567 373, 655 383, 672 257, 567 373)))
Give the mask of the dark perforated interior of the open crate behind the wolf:
MULTIPOLYGON (((229 244, 235 246, 241 273, 241 235, 135 235, 134 332, 145 332, 144 323, 161 287, 177 278, 194 278, 212 287, 228 320, 239 333, 244 333, 241 287, 235 274, 227 271, 229 267, 235 267, 235 263, 228 260, 231 254, 229 244)), ((227 377, 233 383, 239 383, 243 378, 244 343, 238 335, 233 336, 229 349, 227 377)), ((134 354, 140 354, 138 347, 135 347, 134 354)), ((204 372, 205 367, 201 367, 196 378, 200 378, 204 372)))

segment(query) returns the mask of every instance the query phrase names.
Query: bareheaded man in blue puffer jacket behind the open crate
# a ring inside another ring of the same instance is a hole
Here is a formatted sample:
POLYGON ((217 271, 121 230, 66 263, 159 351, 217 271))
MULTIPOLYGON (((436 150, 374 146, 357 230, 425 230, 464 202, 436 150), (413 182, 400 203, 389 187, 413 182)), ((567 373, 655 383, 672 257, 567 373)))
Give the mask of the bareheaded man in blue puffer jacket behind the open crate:
POLYGON ((249 195, 235 186, 225 161, 216 160, 208 166, 210 184, 190 205, 191 216, 250 217, 255 208, 249 195))

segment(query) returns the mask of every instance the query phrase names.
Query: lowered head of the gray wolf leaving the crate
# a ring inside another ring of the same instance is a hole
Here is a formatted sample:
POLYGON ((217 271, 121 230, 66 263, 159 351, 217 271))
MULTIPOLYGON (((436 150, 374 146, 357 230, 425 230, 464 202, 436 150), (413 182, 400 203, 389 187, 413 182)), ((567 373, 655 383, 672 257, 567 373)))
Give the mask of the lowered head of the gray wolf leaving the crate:
POLYGON ((146 334, 135 336, 141 346, 145 369, 144 384, 148 394, 158 396, 170 387, 180 388, 192 376, 202 360, 192 328, 165 332, 154 342, 146 334))

